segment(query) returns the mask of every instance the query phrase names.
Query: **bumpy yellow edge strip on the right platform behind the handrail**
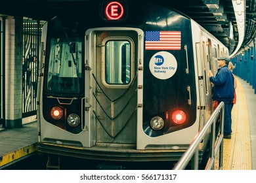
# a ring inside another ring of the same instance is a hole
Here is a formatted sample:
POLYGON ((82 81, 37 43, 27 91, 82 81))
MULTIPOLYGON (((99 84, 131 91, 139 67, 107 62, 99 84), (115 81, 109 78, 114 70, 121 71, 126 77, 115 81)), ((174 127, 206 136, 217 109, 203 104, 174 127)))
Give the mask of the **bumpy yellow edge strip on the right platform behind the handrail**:
POLYGON ((251 170, 249 114, 244 88, 237 77, 237 101, 232 109, 232 139, 224 139, 223 169, 251 170))

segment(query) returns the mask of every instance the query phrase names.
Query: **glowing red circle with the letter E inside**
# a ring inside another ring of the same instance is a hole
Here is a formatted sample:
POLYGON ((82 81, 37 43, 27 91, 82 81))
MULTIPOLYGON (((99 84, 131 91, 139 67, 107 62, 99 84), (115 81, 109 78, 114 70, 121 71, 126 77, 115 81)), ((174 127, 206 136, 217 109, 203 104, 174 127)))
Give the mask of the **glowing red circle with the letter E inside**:
POLYGON ((109 20, 118 20, 123 16, 123 6, 116 1, 108 3, 105 13, 109 20))

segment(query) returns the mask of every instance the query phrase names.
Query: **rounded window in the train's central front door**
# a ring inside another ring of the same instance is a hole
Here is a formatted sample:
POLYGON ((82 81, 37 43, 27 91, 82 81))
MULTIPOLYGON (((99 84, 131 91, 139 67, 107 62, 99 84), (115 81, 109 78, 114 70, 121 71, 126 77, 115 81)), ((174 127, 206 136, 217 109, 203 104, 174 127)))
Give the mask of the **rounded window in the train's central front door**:
POLYGON ((108 86, 125 86, 132 80, 131 42, 109 40, 105 44, 104 82, 108 86))

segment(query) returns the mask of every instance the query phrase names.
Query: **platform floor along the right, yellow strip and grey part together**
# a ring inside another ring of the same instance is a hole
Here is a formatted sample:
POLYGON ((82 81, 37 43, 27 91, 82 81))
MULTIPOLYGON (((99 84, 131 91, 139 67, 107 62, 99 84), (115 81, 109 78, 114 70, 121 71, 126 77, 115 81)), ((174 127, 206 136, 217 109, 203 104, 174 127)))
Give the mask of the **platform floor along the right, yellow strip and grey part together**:
POLYGON ((256 94, 236 77, 236 104, 232 108, 232 138, 223 140, 224 170, 256 169, 256 94))

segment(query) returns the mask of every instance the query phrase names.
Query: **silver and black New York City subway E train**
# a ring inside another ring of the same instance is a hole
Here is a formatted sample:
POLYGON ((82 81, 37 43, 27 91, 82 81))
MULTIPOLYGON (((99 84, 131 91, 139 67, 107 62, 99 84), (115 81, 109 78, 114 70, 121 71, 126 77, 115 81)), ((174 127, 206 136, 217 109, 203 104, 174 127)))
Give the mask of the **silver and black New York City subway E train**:
POLYGON ((223 55, 220 41, 163 2, 68 5, 42 29, 38 151, 178 161, 213 112, 207 73, 223 55))

